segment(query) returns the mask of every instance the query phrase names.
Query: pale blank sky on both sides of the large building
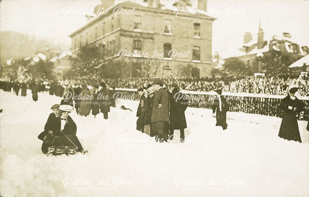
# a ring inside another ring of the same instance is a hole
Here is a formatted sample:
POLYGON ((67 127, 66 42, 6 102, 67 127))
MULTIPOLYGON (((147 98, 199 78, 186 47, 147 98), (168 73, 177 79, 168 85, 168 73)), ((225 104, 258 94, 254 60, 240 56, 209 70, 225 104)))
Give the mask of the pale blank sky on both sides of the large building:
MULTIPOLYGON (((195 4, 196 0, 192 0, 195 4)), ((68 35, 87 23, 100 0, 2 0, 0 30, 18 31, 70 46, 68 35)), ((301 46, 309 46, 308 0, 208 0, 213 23, 212 54, 223 58, 243 44, 245 32, 257 38, 259 22, 264 38, 289 32, 301 46)))

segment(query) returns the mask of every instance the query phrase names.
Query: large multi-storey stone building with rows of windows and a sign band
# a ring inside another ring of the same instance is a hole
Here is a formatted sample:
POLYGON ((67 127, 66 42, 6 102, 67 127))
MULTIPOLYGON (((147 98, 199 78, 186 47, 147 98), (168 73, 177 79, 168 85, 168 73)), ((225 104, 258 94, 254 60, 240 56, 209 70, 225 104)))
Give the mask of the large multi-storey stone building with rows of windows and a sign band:
POLYGON ((198 9, 193 8, 190 1, 166 2, 145 0, 114 4, 102 0, 102 4, 95 7, 97 15, 69 35, 71 52, 74 54, 80 47, 95 43, 103 45, 106 59, 119 59, 121 50, 124 54, 126 51, 138 54, 127 55, 127 59, 142 59, 148 53, 147 58, 160 61, 156 76, 174 76, 176 70, 188 66, 189 76, 209 75, 215 18, 204 11, 207 0, 199 1, 198 9), (168 53, 171 50, 173 53, 168 53))

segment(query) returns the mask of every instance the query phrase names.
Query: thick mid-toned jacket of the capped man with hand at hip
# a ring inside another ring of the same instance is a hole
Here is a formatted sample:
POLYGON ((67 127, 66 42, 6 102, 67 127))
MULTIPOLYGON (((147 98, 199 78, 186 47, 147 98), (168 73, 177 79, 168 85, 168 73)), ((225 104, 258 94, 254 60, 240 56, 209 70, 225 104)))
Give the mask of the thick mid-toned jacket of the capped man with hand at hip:
POLYGON ((151 122, 169 121, 170 101, 167 92, 160 88, 154 97, 154 106, 151 115, 151 122), (159 104, 162 106, 159 108, 159 104))

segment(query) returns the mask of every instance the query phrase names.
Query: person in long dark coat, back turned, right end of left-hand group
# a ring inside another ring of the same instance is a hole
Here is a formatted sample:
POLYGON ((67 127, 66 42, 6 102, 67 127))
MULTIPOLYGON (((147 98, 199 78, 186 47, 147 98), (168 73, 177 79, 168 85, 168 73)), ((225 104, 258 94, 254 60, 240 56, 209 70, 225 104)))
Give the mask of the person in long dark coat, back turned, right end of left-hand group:
POLYGON ((112 94, 109 91, 109 89, 107 89, 106 84, 104 82, 102 82, 100 84, 100 86, 102 87, 102 89, 100 90, 100 96, 101 99, 100 100, 100 111, 101 113, 103 113, 104 115, 104 119, 108 119, 108 112, 110 112, 110 105, 112 104, 112 94))

